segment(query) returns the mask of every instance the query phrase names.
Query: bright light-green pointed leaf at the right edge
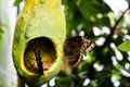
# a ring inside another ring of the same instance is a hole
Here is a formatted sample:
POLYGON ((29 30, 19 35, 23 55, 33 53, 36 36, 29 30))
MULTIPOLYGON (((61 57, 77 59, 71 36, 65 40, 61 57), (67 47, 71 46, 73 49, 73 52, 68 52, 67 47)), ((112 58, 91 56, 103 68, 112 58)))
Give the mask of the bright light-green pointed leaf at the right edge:
POLYGON ((130 40, 122 42, 117 48, 121 51, 125 51, 125 52, 130 51, 130 40))

